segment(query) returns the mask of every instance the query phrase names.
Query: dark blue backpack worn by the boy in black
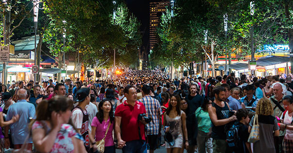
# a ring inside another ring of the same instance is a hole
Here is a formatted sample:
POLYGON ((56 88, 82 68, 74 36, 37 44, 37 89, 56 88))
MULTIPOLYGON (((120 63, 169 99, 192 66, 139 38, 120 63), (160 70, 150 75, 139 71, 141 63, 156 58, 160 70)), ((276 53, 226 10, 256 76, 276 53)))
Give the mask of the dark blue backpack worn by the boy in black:
POLYGON ((233 124, 232 127, 226 133, 226 142, 229 147, 235 148, 238 147, 241 143, 239 137, 239 124, 233 124))

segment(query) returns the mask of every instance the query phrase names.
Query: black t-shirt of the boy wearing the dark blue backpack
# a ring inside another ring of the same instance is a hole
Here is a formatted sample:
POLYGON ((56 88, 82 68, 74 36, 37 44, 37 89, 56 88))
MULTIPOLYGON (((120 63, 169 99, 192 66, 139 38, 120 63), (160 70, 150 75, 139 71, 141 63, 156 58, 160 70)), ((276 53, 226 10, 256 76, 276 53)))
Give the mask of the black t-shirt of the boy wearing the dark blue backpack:
POLYGON ((235 152, 237 151, 237 153, 249 153, 248 149, 245 145, 245 142, 247 142, 248 137, 249 137, 249 133, 248 133, 248 127, 244 124, 242 124, 241 122, 237 122, 237 124, 240 125, 239 127, 239 137, 240 137, 240 142, 238 144, 238 147, 235 148, 235 152))

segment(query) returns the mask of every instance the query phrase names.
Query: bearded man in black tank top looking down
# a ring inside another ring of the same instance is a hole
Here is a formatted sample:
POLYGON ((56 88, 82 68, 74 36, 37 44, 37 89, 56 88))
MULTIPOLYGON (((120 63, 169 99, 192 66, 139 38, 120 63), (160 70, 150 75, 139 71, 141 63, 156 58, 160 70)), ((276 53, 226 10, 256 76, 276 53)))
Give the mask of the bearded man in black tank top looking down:
POLYGON ((215 100, 208 107, 208 115, 212 122, 213 153, 226 153, 227 142, 224 131, 225 124, 237 120, 235 115, 230 115, 230 108, 225 100, 225 88, 222 86, 213 89, 215 100))

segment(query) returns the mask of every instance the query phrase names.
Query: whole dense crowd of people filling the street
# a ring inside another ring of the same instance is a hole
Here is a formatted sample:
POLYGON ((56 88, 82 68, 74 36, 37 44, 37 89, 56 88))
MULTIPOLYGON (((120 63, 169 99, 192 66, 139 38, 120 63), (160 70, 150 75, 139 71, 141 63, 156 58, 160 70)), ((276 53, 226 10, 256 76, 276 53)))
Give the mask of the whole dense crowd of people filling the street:
POLYGON ((13 81, 0 89, 1 152, 293 153, 292 81, 233 73, 171 80, 155 70, 13 81))

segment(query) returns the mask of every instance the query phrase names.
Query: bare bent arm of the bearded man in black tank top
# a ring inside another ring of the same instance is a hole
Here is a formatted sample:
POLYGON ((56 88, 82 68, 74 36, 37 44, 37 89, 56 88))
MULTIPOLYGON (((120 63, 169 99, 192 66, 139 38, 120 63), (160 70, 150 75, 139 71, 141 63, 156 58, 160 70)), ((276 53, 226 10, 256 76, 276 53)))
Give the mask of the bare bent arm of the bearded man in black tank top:
POLYGON ((214 108, 212 106, 208 107, 208 115, 210 117, 211 122, 213 122, 213 124, 215 126, 221 126, 221 125, 224 125, 224 124, 227 124, 229 122, 237 120, 235 115, 233 115, 233 116, 231 116, 231 117, 229 117, 227 119, 218 120, 217 114, 216 114, 216 108, 214 108))

